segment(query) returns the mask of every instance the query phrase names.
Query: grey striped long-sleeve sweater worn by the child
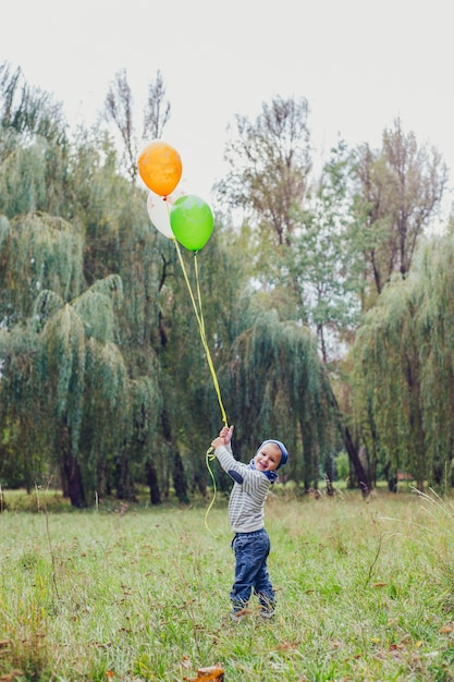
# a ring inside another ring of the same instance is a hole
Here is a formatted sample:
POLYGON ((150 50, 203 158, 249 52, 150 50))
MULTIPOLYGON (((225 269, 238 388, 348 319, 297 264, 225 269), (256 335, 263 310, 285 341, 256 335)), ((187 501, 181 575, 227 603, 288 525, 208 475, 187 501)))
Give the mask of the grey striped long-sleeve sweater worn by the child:
POLYGON ((224 472, 233 478, 229 500, 229 520, 234 533, 251 533, 263 527, 265 500, 271 482, 262 473, 235 460, 231 446, 221 446, 214 454, 224 472))

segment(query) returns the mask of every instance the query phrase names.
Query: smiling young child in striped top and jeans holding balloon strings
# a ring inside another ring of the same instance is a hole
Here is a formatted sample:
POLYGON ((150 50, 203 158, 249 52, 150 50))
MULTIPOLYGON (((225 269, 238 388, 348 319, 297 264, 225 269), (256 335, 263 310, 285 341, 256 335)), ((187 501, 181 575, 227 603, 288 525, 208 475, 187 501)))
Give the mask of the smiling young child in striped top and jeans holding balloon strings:
POLYGON ((263 618, 274 614, 274 590, 268 573, 270 538, 265 529, 263 508, 277 471, 285 464, 289 452, 280 440, 265 440, 250 464, 242 464, 232 453, 233 426, 224 426, 211 446, 222 468, 233 478, 229 500, 229 520, 235 536, 235 582, 230 593, 232 620, 240 620, 254 592, 263 618))

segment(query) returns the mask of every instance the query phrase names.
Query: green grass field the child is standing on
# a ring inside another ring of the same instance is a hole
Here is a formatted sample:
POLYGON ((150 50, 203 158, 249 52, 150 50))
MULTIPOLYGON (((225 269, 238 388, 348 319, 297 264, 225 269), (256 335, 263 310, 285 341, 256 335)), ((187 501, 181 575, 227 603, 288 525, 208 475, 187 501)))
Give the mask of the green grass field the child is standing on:
POLYGON ((225 500, 208 529, 201 503, 4 497, 0 680, 182 682, 218 662, 225 682, 454 680, 451 501, 280 491, 266 510, 277 616, 253 599, 232 623, 225 500))

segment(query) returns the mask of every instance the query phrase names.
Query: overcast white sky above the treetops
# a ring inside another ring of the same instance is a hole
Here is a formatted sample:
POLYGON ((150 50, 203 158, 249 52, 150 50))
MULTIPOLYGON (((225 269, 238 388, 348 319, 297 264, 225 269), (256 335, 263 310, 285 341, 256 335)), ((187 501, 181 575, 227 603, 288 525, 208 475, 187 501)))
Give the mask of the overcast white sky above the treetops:
MULTIPOLYGON (((454 40, 449 0, 3 0, 0 63, 95 121, 126 69, 137 107, 158 69, 172 119, 164 139, 192 194, 210 200, 225 129, 275 95, 306 97, 317 153, 338 135, 380 145, 400 117, 434 145, 454 185, 454 40)), ((139 120, 138 123, 142 123, 139 120)), ((452 197, 450 195, 450 202, 452 197)))

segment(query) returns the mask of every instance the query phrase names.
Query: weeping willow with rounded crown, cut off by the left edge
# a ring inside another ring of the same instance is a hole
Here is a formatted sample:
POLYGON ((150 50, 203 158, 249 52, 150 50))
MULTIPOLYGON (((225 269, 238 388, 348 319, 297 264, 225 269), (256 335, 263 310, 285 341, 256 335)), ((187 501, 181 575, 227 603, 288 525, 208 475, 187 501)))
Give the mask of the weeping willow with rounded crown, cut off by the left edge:
POLYGON ((59 218, 27 214, 0 219, 1 426, 9 461, 17 464, 10 475, 15 471, 13 478, 21 479, 22 472, 28 490, 50 458, 41 410, 47 394, 42 395, 37 379, 40 346, 35 326, 45 302, 49 309, 57 309, 63 300, 81 292, 82 252, 81 233, 59 218), (56 293, 46 295, 51 288, 56 293))

